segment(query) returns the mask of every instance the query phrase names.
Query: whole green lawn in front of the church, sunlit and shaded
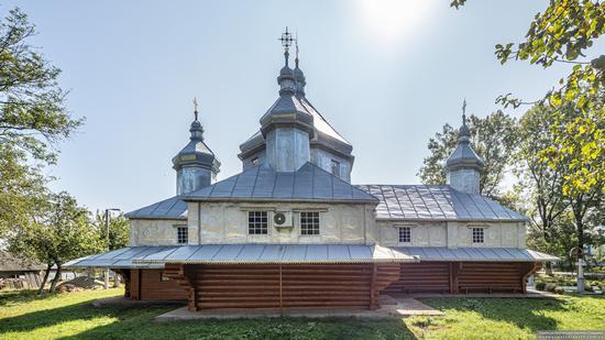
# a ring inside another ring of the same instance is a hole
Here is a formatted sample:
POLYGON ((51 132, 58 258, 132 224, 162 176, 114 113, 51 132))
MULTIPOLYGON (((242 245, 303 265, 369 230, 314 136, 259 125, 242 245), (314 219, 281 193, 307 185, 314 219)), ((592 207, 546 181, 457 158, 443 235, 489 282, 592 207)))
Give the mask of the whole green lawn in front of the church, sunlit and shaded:
POLYGON ((251 319, 168 323, 175 307, 102 307, 90 301, 121 289, 59 294, 0 292, 0 339, 526 339, 542 329, 605 329, 605 298, 425 299, 443 317, 408 319, 251 319))

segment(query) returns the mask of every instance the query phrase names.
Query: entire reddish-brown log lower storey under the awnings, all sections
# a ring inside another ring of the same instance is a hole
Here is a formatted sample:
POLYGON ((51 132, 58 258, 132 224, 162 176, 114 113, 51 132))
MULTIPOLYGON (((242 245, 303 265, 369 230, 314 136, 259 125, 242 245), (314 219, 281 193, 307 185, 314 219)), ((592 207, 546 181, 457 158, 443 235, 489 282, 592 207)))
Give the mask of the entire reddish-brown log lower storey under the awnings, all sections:
POLYGON ((528 262, 166 264, 119 271, 132 299, 186 299, 202 309, 376 309, 381 294, 526 293, 528 262))

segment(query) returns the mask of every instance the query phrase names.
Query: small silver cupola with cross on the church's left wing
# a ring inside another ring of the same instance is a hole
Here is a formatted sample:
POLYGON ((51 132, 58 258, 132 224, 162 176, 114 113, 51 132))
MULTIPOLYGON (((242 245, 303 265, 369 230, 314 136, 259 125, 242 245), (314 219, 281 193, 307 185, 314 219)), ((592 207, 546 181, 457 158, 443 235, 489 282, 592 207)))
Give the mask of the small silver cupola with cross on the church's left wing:
POLYGON ((190 141, 173 157, 177 195, 193 193, 211 185, 221 165, 215 153, 204 143, 204 128, 198 120, 197 99, 194 99, 194 106, 195 120, 189 128, 190 141))

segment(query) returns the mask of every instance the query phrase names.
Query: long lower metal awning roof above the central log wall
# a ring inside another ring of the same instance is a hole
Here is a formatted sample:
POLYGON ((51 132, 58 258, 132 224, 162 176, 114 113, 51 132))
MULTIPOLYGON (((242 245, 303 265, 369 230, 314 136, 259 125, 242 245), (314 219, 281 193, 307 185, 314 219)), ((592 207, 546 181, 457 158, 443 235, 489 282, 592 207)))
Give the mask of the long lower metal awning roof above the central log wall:
POLYGON ((402 263, 397 250, 364 244, 204 244, 129 246, 74 260, 66 267, 151 268, 165 263, 402 263))

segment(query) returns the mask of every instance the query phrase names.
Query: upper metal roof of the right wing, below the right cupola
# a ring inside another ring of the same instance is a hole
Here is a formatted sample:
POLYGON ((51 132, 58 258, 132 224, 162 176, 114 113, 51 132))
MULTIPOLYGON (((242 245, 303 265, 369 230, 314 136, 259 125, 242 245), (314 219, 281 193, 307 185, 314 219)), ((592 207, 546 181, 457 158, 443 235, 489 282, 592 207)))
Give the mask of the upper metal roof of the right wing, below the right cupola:
POLYGON ((377 197, 376 218, 427 221, 526 221, 527 218, 479 194, 447 185, 359 185, 377 197))

